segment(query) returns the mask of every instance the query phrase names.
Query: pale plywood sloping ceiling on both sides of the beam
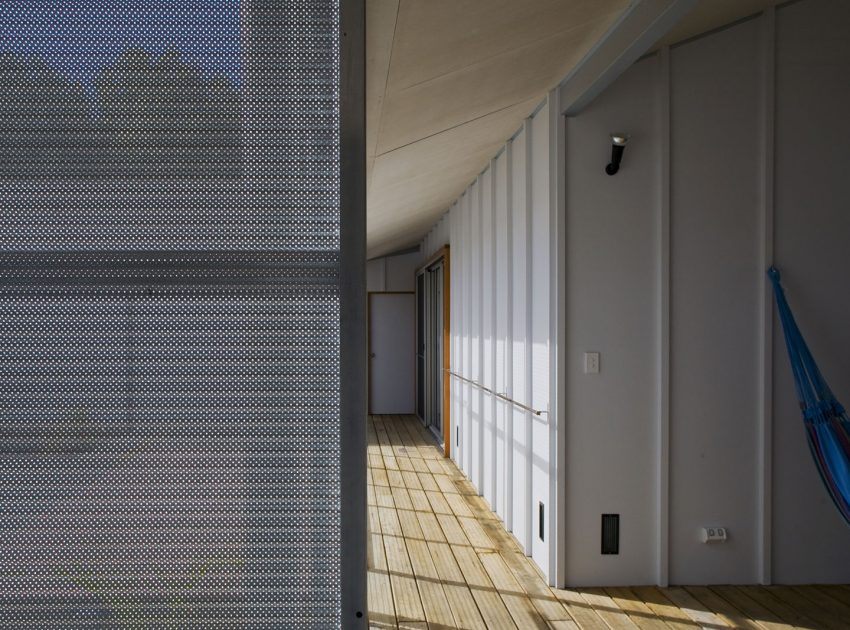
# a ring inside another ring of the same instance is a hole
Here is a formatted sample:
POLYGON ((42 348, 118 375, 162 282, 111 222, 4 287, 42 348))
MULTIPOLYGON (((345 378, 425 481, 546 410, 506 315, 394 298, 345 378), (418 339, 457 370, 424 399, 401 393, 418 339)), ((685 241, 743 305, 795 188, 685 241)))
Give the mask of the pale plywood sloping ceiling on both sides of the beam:
MULTIPOLYGON (((366 0, 369 256, 418 243, 630 3, 366 0)), ((701 0, 660 44, 772 4, 701 0)))

